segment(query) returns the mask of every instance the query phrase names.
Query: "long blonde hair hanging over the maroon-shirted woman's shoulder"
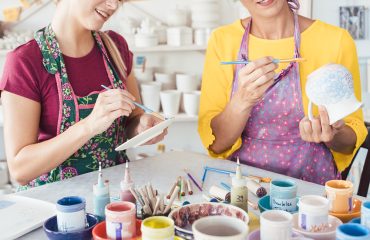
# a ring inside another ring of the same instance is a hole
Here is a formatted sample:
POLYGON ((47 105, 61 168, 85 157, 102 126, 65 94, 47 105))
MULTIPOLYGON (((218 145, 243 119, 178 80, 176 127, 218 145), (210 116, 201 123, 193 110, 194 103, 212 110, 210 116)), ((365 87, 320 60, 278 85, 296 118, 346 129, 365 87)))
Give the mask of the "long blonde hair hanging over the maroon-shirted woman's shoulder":
POLYGON ((117 68, 116 70, 118 71, 119 75, 122 76, 124 79, 127 79, 127 67, 122 59, 121 53, 118 50, 116 44, 106 32, 100 32, 100 36, 103 39, 104 45, 107 48, 108 53, 113 59, 114 65, 116 66, 117 68))

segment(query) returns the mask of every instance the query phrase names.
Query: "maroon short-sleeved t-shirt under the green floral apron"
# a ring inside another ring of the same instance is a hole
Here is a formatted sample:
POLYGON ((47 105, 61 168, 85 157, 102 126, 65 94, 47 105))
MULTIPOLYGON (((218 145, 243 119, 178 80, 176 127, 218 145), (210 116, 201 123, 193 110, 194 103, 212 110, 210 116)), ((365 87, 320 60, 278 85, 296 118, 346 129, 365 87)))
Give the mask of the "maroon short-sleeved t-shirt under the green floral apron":
MULTIPOLYGON (((116 32, 109 31, 108 34, 121 52, 129 71, 128 74, 130 74, 133 55, 127 42, 116 32)), ((91 92, 101 91, 102 84, 110 85, 103 55, 96 43, 84 57, 73 58, 63 55, 63 58, 68 80, 77 96, 86 96, 91 92)), ((7 55, 0 81, 0 93, 1 90, 41 104, 39 141, 45 141, 57 135, 59 99, 55 76, 44 68, 40 48, 34 39, 7 55)))

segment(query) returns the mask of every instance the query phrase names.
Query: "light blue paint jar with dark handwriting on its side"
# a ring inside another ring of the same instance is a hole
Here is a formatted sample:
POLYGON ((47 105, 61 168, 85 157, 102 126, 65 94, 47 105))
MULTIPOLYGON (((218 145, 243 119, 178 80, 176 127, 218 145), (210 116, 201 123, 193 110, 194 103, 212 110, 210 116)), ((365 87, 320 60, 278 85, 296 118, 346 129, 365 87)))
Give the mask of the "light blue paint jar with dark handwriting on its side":
POLYGON ((295 212, 297 210, 297 184, 289 179, 274 180, 270 184, 272 209, 295 212))

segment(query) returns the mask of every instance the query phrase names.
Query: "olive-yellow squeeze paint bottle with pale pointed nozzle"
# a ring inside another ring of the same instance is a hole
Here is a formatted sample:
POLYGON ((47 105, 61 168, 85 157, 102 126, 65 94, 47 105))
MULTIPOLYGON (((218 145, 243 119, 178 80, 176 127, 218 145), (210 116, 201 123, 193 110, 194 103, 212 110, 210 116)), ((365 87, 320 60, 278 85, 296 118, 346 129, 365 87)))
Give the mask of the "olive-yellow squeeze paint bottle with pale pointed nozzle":
POLYGON ((236 174, 232 178, 231 204, 248 212, 248 188, 240 169, 239 158, 237 159, 236 174))

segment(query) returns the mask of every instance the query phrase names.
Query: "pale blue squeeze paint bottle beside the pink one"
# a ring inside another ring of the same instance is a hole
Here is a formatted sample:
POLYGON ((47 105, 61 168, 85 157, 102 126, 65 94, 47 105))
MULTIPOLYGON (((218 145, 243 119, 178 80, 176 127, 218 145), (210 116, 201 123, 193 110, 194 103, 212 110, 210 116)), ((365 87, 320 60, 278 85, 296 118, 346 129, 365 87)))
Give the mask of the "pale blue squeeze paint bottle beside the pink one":
POLYGON ((94 214, 99 220, 105 219, 105 206, 110 203, 109 197, 109 181, 103 181, 103 173, 101 163, 99 162, 98 183, 93 186, 94 195, 94 214))

